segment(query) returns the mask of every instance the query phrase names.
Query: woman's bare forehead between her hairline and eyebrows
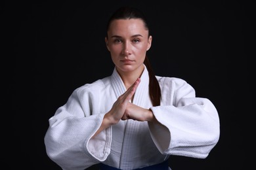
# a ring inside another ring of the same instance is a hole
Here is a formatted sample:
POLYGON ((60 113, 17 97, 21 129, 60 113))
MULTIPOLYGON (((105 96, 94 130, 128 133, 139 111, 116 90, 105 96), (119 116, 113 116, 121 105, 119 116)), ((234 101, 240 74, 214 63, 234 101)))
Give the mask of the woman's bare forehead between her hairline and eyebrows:
POLYGON ((141 19, 113 20, 108 29, 110 35, 147 34, 148 30, 141 19))

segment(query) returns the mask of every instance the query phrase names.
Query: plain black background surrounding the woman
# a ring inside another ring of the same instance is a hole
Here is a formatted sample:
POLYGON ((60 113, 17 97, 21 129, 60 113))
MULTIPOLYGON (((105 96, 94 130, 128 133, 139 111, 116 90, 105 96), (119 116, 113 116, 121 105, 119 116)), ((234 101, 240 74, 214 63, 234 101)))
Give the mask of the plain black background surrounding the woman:
POLYGON ((183 78, 219 111, 221 137, 209 156, 171 156, 172 169, 245 169, 253 114, 247 57, 255 57, 249 1, 2 1, 3 108, 11 108, 2 120, 5 169, 60 169, 45 152, 48 120, 75 88, 112 74, 104 36, 121 5, 148 16, 156 75, 183 78))

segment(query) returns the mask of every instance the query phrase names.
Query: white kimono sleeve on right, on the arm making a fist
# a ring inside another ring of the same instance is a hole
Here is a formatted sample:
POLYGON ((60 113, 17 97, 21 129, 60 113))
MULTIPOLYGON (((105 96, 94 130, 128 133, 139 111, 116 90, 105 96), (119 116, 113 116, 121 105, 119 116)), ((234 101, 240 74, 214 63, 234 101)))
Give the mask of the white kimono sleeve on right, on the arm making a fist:
POLYGON ((206 158, 219 141, 219 115, 209 99, 196 97, 194 88, 179 78, 162 82, 164 105, 151 107, 152 139, 162 154, 206 158))

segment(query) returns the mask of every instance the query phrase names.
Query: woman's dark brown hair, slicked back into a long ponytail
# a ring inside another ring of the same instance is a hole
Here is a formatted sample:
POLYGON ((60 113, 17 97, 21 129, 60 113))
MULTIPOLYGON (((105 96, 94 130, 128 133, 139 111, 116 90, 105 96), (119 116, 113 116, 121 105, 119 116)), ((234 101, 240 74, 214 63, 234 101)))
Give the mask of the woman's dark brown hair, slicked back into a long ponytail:
MULTIPOLYGON (((109 29, 111 22, 113 20, 118 20, 118 19, 142 20, 144 22, 144 27, 148 30, 148 37, 150 36, 150 29, 149 29, 146 17, 139 9, 136 9, 134 7, 121 7, 117 9, 116 12, 114 12, 114 14, 112 14, 110 19, 108 20, 107 31, 109 29)), ((148 75, 149 75, 149 81, 150 81, 149 82, 150 99, 152 101, 153 106, 159 106, 161 102, 161 89, 147 56, 144 60, 144 65, 146 65, 146 68, 148 69, 148 75)))

